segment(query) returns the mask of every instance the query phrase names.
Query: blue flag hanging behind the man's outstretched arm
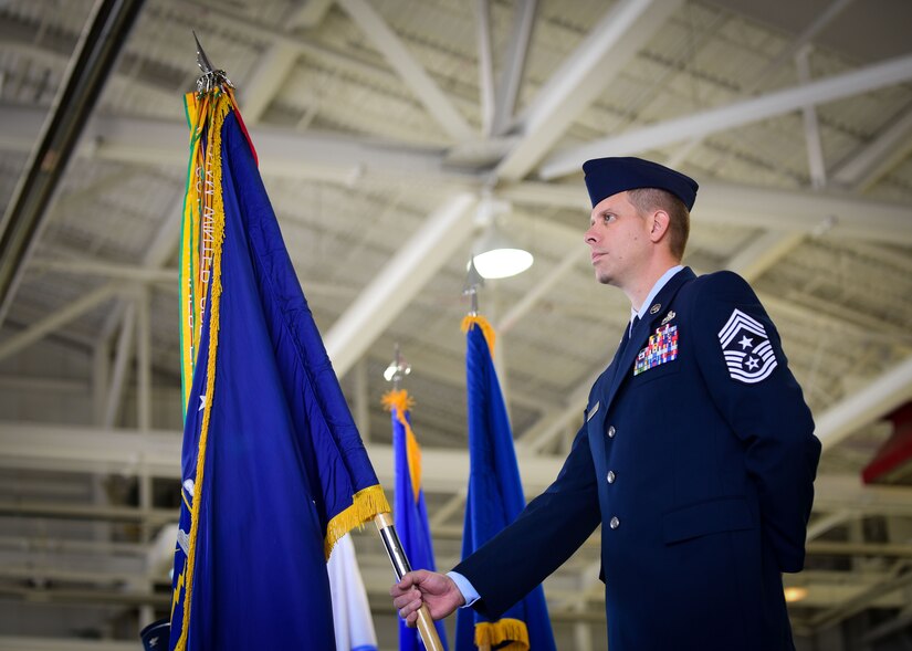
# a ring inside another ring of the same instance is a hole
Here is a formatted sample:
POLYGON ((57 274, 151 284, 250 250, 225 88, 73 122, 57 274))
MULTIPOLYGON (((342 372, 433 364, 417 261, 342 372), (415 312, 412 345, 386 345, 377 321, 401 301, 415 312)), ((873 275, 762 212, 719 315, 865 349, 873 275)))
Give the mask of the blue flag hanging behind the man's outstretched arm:
MULTIPOLYGON (((480 316, 467 317, 465 375, 469 403, 469 495, 462 558, 493 538, 525 508, 513 433, 494 369, 494 332, 480 316)), ((555 649, 542 586, 489 621, 472 609, 457 612, 457 650, 547 651, 555 649)))

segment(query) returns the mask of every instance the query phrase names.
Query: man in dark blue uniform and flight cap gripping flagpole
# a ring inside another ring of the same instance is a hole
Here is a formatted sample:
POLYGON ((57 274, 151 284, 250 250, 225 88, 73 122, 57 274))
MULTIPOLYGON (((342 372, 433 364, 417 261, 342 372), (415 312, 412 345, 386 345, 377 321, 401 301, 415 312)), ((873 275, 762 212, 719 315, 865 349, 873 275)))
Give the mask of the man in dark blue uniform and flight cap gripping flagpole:
POLYGON ((422 602, 496 618, 601 523, 611 651, 794 649, 780 573, 804 565, 820 442, 776 327, 736 274, 680 265, 693 179, 638 158, 583 169, 596 279, 633 318, 555 482, 394 603, 408 622, 422 602))

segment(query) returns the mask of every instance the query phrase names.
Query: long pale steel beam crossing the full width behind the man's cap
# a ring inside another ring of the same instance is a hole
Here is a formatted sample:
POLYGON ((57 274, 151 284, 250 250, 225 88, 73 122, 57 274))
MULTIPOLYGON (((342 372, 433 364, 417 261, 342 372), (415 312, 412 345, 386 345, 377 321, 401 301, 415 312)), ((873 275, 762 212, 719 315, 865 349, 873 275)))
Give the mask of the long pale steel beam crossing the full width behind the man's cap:
MULTIPOLYGON (((39 118, 40 114, 33 109, 0 106, 0 147, 4 143, 18 147, 19 139, 29 136, 29 129, 39 118)), ((187 164, 181 154, 186 146, 186 127, 177 122, 112 117, 106 125, 109 134, 92 156, 120 162, 161 162, 181 167, 187 164)), ((252 137, 263 160, 264 175, 338 185, 350 185, 361 177, 390 182, 413 182, 420 178, 453 190, 478 189, 484 183, 484 178, 479 175, 448 169, 440 153, 415 148, 390 150, 344 136, 306 135, 263 127, 252 129, 252 137)), ((590 209, 580 185, 505 183, 496 193, 517 206, 570 208, 579 210, 584 217, 590 209)), ((179 212, 178 207, 171 222, 175 228, 174 239, 169 240, 171 246, 177 242, 179 212)), ((829 229, 828 234, 835 237, 912 244, 912 207, 866 200, 838 191, 776 190, 704 181, 692 218, 695 223, 734 223, 783 232, 814 233, 825 227, 829 229)), ((581 232, 580 228, 573 238, 581 238, 581 232)))

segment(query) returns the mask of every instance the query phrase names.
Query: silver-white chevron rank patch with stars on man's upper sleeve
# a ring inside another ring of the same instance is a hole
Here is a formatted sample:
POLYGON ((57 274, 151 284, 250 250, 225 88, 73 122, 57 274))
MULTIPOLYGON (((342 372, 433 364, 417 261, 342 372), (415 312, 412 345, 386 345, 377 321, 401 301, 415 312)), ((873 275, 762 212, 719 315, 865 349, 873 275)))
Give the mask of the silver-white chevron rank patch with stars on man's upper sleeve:
POLYGON ((766 335, 766 328, 757 319, 741 309, 719 330, 719 343, 728 375, 734 380, 753 385, 765 380, 776 368, 776 354, 766 335))

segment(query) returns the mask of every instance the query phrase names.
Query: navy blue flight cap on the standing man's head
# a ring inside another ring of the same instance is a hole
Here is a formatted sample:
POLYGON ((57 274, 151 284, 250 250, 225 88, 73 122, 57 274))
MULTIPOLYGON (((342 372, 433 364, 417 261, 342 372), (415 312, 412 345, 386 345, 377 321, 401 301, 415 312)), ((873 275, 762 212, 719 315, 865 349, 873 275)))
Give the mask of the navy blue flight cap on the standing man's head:
POLYGON ((642 158, 594 158, 583 164, 586 188, 593 208, 602 199, 637 188, 659 188, 678 197, 693 208, 696 200, 696 181, 658 162, 642 158))

